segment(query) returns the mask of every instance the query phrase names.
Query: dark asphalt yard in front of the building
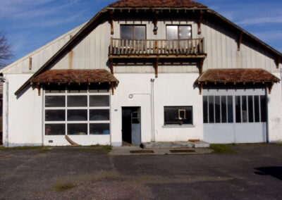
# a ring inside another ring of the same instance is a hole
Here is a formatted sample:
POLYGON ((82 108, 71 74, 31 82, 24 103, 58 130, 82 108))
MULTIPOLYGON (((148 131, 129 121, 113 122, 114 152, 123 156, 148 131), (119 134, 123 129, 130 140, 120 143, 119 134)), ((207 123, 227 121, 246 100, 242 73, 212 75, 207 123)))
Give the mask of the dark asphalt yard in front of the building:
POLYGON ((232 148, 237 153, 0 151, 0 199, 282 199, 282 146, 232 148))

